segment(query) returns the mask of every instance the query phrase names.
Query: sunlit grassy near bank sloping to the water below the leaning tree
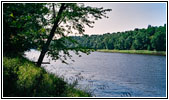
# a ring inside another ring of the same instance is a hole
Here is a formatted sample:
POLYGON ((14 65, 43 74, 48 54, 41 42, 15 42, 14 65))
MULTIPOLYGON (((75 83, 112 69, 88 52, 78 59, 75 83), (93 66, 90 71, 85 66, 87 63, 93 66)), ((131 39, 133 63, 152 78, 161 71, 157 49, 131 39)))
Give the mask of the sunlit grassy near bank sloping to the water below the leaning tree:
POLYGON ((47 73, 22 56, 3 57, 4 97, 88 97, 64 79, 47 73))

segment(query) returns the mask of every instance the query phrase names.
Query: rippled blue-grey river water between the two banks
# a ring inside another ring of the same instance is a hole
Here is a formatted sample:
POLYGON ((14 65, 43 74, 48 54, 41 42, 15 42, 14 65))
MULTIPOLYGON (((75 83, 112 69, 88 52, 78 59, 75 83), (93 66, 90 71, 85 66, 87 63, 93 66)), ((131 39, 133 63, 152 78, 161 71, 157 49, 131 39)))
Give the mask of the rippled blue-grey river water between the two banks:
MULTIPOLYGON (((31 50, 26 57, 37 61, 39 52, 31 50)), ((51 73, 68 82, 78 80, 78 88, 97 97, 165 97, 166 57, 153 55, 92 52, 90 55, 74 53, 69 65, 50 61, 43 65, 51 73)), ((50 59, 50 60, 49 60, 50 59)))

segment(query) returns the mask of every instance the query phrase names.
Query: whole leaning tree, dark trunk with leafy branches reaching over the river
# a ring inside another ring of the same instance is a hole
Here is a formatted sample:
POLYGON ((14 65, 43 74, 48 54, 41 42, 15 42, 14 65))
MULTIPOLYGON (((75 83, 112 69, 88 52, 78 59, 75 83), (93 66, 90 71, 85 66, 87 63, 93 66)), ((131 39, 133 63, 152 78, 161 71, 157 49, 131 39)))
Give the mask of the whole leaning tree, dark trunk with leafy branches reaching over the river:
MULTIPOLYGON (((72 41, 70 38, 67 37, 67 35, 71 33, 83 34, 85 32, 85 25, 91 28, 93 27, 91 24, 93 24, 94 21, 93 19, 89 19, 90 17, 93 17, 94 20, 101 19, 102 17, 108 18, 107 16, 105 16, 107 11, 111 11, 111 9, 95 8, 76 3, 60 4, 60 9, 57 13, 57 17, 54 20, 54 25, 45 45, 43 46, 37 65, 40 66, 42 64, 46 52, 48 52, 48 54, 50 54, 54 59, 58 59, 60 58, 58 52, 60 50, 63 50, 64 54, 67 54, 70 57, 68 49, 64 46, 65 41, 63 41, 64 39, 72 41), (61 38, 53 39, 55 33, 61 38), (55 46, 50 46, 50 42, 52 41, 52 39, 53 44, 59 44, 55 46), (58 48, 56 48, 57 46, 58 48), (54 47, 55 49, 53 49, 52 47, 54 47)), ((53 13, 55 14, 54 4, 53 13)), ((83 51, 81 49, 76 49, 76 51, 78 50, 83 51)), ((66 57, 64 56, 64 58, 66 57)))

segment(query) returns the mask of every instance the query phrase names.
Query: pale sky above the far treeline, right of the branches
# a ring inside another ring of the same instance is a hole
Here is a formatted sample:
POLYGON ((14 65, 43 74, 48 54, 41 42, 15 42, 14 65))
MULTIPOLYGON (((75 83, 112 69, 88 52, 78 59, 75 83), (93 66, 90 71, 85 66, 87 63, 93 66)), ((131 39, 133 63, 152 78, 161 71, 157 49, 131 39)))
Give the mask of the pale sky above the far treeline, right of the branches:
POLYGON ((104 34, 166 24, 166 3, 85 3, 86 6, 112 9, 109 18, 95 21, 85 34, 104 34))

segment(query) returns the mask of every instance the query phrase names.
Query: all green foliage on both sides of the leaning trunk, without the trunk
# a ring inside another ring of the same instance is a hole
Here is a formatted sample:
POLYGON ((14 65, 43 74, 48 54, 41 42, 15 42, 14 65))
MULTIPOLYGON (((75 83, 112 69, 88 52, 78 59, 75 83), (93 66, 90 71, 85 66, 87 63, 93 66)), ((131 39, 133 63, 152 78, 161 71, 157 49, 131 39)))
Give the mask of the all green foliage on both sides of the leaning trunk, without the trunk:
MULTIPOLYGON (((77 3, 4 3, 4 53, 20 53, 31 48, 42 50, 59 15, 58 27, 53 29, 54 35, 51 36, 52 40, 48 42, 48 46, 44 47, 46 48, 44 54, 47 52, 53 59, 58 59, 61 56, 59 52, 63 51, 66 56, 71 57, 68 52, 70 48, 67 48, 65 43, 76 42, 68 35, 83 35, 86 26, 92 28, 95 20, 107 18, 105 15, 108 11, 111 9, 77 3), (64 9, 59 15, 59 8, 62 5, 64 5, 64 9)), ((79 47, 71 48, 71 50, 76 53, 77 51, 86 52, 79 47)))

